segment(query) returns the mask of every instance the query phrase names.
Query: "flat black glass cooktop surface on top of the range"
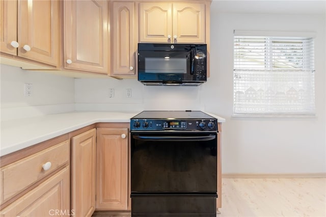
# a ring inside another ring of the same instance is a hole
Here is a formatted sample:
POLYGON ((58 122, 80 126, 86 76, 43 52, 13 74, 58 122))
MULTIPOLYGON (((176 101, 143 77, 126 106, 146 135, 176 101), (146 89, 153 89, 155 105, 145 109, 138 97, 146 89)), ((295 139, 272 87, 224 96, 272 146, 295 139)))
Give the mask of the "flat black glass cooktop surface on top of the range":
POLYGON ((201 111, 143 111, 132 119, 215 119, 201 111))

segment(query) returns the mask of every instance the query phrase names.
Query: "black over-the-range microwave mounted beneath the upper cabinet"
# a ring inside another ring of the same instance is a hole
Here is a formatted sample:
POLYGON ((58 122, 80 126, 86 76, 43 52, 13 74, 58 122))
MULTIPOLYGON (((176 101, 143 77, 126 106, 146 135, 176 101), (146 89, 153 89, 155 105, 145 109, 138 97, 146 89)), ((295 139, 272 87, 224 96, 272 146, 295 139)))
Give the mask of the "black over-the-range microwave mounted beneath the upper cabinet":
POLYGON ((207 81, 206 44, 138 44, 138 80, 144 85, 198 86, 207 81))

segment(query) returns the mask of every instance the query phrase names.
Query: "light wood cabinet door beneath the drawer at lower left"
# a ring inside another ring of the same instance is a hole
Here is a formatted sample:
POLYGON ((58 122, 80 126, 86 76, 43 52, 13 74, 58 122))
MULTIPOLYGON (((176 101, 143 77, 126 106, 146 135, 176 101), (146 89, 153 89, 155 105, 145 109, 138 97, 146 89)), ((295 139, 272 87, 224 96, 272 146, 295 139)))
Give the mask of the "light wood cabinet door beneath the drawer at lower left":
POLYGON ((1 210, 1 216, 70 216, 69 179, 66 167, 1 210))

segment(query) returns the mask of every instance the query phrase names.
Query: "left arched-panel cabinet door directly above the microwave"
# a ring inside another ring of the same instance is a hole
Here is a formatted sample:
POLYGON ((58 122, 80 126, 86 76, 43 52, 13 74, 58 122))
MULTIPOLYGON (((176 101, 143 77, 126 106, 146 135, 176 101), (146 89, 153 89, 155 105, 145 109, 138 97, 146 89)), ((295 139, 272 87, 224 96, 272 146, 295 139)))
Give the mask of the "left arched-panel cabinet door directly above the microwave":
POLYGON ((172 4, 140 3, 140 42, 172 41, 172 4))

